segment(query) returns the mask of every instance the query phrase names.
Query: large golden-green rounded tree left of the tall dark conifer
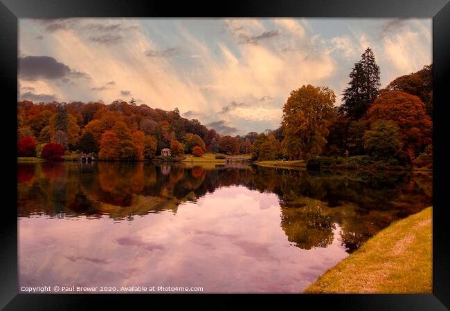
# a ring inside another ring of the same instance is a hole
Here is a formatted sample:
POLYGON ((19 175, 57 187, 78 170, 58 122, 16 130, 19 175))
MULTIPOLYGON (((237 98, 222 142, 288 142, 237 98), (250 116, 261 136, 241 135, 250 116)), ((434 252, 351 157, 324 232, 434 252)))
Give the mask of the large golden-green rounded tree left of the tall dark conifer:
POLYGON ((335 101, 334 92, 323 86, 304 85, 291 91, 282 117, 283 147, 289 158, 297 160, 322 153, 335 101))

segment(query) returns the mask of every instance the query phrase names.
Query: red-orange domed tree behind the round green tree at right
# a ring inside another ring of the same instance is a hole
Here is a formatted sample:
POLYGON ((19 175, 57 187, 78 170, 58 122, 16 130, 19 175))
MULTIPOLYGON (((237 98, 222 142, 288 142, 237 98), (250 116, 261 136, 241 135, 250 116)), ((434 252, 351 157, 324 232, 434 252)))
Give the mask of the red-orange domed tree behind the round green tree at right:
POLYGON ((383 91, 368 111, 368 124, 388 120, 399 126, 403 149, 415 156, 431 143, 433 123, 425 113, 425 104, 419 97, 402 91, 383 91))

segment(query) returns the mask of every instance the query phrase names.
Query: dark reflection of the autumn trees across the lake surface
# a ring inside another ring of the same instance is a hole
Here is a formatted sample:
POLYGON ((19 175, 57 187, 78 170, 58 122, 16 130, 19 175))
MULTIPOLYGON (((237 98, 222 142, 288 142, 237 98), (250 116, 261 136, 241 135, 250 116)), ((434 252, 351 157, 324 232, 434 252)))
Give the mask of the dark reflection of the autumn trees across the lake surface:
POLYGON ((19 164, 18 213, 108 214, 116 220, 171 210, 220 187, 276 194, 281 227, 298 247, 327 247, 334 224, 352 252, 393 220, 431 205, 431 176, 411 173, 298 171, 269 167, 147 162, 19 164))

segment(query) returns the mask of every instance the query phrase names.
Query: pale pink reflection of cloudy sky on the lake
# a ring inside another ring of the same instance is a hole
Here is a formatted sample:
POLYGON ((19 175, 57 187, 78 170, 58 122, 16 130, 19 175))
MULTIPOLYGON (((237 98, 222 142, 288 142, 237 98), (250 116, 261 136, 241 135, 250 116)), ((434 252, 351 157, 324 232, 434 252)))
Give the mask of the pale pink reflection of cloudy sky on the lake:
MULTIPOLYGON (((105 216, 98 220, 79 217, 76 222, 23 218, 19 221, 20 282, 299 292, 314 281, 299 281, 309 263, 321 265, 323 251, 331 249, 302 252, 289 245, 280 227, 279 205, 260 209, 277 205, 275 194, 239 186, 216 189, 197 202, 186 202, 176 215, 168 211, 148 214, 131 223, 114 223, 105 216), (54 237, 54 246, 42 247, 37 232, 54 237), (95 256, 73 255, 87 251, 95 256)), ((335 261, 345 256, 337 247, 332 256, 335 261)))

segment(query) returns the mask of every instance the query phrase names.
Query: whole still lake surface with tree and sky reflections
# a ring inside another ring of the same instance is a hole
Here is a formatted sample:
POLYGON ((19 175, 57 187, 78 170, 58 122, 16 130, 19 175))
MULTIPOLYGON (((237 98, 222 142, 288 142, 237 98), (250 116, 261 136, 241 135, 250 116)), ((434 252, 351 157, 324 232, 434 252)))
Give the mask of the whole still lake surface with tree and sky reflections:
POLYGON ((17 177, 19 288, 301 292, 432 202, 431 174, 409 172, 43 162, 17 177))

